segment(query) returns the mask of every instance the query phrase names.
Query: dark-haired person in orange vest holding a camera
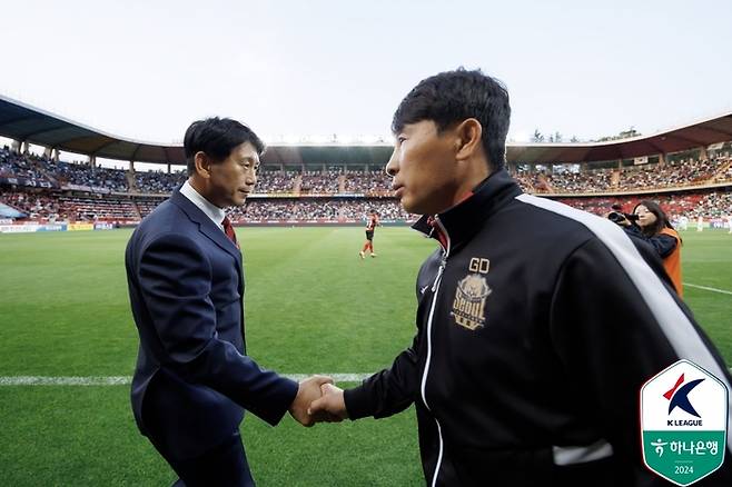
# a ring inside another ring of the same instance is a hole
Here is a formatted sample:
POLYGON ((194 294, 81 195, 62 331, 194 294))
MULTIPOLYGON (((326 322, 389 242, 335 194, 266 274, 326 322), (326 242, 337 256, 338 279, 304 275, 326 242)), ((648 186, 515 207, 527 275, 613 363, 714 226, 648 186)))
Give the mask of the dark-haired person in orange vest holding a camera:
POLYGON ((681 237, 669 221, 659 203, 643 200, 633 208, 637 227, 644 239, 653 246, 663 260, 663 267, 673 282, 679 297, 683 298, 681 284, 681 237))

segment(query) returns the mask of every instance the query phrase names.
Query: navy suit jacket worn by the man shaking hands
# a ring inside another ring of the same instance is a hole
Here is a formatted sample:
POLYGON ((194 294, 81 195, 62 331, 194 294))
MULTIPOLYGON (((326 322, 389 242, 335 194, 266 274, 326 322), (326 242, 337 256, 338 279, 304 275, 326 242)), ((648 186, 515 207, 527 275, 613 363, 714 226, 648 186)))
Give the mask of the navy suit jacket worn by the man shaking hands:
POLYGON ((230 437, 244 409, 276 425, 298 386, 245 355, 241 252, 221 229, 177 189, 135 230, 125 264, 140 431, 185 459, 230 437))

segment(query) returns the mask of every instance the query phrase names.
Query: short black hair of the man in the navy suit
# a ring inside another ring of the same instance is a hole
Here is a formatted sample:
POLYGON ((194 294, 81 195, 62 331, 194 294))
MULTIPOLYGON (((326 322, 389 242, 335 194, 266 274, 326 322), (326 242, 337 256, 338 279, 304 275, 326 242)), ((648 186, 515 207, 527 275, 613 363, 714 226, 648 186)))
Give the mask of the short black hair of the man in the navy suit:
POLYGON ((188 176, 196 172, 197 152, 205 152, 214 162, 221 162, 235 147, 245 142, 250 142, 259 156, 265 152, 265 142, 254 130, 239 121, 218 117, 196 120, 188 127, 184 137, 188 176))

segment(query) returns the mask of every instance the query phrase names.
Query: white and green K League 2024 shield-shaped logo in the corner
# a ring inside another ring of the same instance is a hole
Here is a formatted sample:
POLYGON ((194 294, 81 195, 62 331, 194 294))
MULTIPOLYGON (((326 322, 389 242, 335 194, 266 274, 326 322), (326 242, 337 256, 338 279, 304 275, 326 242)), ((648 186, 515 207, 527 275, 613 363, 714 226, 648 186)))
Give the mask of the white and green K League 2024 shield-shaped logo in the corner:
POLYGON ((716 377, 679 360, 641 388, 646 467, 686 486, 720 468, 726 449, 728 390, 716 377))

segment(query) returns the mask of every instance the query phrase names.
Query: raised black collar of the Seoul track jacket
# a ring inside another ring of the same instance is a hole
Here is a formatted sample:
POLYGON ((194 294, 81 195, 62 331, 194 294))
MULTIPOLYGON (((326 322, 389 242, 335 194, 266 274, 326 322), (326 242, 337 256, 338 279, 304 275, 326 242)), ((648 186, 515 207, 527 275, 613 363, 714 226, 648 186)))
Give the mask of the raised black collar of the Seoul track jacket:
POLYGON ((493 172, 454 207, 435 216, 424 215, 415 230, 441 242, 446 252, 469 240, 483 220, 523 191, 505 169, 493 172))

